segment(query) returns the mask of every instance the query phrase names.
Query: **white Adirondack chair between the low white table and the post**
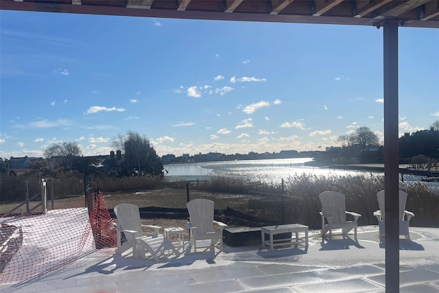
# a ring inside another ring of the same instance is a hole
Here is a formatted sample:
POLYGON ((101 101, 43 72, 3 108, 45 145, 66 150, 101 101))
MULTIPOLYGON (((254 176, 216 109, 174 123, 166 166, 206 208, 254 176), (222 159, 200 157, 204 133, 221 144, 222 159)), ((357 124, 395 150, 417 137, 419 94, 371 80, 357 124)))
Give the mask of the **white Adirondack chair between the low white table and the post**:
POLYGON ((332 229, 342 228, 343 235, 354 229, 354 238, 357 240, 357 221, 361 217, 359 213, 346 211, 344 194, 337 191, 324 191, 318 196, 322 204, 322 237, 329 232, 329 239, 332 237, 332 229), (347 221, 346 214, 352 215, 353 220, 347 221), (327 223, 325 223, 325 218, 327 223))

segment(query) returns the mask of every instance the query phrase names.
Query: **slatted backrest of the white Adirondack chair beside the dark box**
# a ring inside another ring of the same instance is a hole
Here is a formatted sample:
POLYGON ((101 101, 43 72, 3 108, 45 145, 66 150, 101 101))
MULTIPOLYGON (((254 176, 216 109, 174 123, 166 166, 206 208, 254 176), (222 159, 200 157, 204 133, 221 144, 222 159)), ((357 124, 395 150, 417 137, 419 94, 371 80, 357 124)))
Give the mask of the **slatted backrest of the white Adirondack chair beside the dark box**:
POLYGON ((187 203, 189 222, 196 226, 196 233, 206 234, 213 232, 214 202, 204 198, 197 198, 187 203))

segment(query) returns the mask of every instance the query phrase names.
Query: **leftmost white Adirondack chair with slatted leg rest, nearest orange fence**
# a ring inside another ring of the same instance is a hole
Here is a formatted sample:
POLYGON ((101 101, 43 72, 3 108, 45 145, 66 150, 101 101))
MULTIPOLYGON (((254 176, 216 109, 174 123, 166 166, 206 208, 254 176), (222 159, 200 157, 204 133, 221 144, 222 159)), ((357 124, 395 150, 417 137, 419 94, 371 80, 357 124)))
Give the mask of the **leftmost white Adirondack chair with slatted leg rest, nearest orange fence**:
POLYGON ((169 239, 159 234, 161 226, 141 224, 137 205, 117 204, 114 211, 117 218, 117 254, 122 255, 131 249, 134 258, 147 259, 146 255, 149 253, 157 262, 167 260, 169 251, 174 252, 177 257, 180 256, 169 239), (153 228, 154 235, 143 235, 142 227, 153 228), (121 244, 121 232, 127 239, 123 244, 121 244))

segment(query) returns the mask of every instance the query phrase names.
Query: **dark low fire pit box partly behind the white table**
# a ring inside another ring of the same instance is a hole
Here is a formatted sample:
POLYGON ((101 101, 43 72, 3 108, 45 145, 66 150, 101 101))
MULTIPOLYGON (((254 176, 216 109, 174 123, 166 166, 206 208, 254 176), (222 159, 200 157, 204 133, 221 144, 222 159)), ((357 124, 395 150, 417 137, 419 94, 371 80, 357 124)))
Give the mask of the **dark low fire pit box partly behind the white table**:
MULTIPOLYGON (((265 240, 269 235, 265 234, 265 240)), ((291 239, 291 233, 274 235, 274 239, 291 239)), ((261 228, 237 227, 224 228, 222 232, 224 244, 229 247, 261 245, 261 228)))

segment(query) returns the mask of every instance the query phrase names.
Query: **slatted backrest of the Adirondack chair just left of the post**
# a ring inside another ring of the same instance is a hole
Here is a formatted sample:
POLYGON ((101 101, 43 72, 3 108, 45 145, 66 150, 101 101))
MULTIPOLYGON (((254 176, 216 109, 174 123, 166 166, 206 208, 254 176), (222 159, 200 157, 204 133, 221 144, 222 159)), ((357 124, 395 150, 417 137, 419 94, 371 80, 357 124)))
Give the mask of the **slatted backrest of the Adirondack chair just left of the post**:
POLYGON ((331 215, 328 220, 335 223, 346 222, 346 202, 344 194, 337 191, 324 191, 319 196, 322 212, 331 215))

